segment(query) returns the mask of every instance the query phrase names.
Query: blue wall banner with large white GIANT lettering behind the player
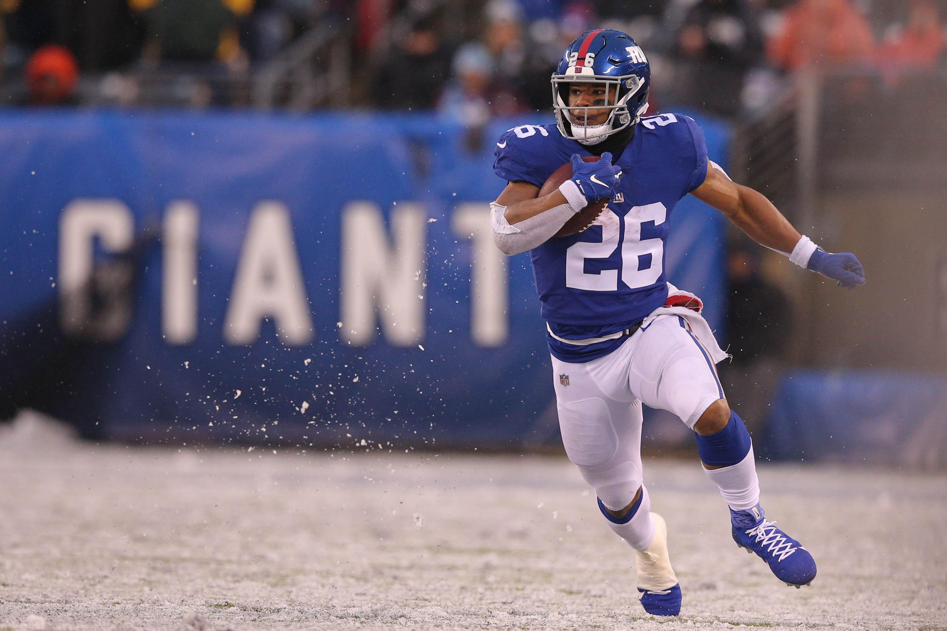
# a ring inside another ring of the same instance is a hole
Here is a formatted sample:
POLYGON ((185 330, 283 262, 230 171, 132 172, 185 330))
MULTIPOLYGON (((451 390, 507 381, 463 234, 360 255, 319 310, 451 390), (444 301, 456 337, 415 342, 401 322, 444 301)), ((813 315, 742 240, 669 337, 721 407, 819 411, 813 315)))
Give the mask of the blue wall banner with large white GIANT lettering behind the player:
MULTIPOLYGON (((127 441, 555 439, 528 257, 489 228, 526 118, 0 111, 0 384, 127 441)), ((722 333, 724 220, 670 222, 670 280, 722 333)))

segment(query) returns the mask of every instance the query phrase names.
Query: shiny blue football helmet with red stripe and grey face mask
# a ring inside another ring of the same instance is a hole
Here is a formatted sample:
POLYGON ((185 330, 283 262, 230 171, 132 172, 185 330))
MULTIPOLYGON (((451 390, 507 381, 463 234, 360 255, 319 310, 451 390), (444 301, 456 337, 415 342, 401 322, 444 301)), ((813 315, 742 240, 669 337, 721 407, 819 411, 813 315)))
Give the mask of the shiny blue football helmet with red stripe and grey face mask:
POLYGON ((596 145, 605 138, 637 124, 648 110, 651 65, 641 46, 620 30, 597 28, 583 34, 563 53, 552 74, 552 109, 556 124, 566 138, 583 145, 596 145), (604 106, 569 107, 569 85, 576 81, 604 83, 604 106), (610 110, 599 125, 573 124, 574 114, 589 110, 610 110))

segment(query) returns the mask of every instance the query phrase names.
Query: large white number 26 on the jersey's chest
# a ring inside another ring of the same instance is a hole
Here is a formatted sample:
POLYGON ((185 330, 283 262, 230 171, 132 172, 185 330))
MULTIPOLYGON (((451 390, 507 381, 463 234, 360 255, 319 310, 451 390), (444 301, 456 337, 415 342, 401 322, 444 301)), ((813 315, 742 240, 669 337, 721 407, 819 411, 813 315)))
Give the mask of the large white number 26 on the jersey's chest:
MULTIPOLYGON (((659 226, 668 219, 661 202, 634 206, 625 215, 625 238, 621 242, 621 282, 628 289, 653 285, 664 265, 664 241, 660 237, 641 238, 641 224, 653 221, 659 226)), ((618 247, 618 218, 608 208, 599 217, 600 242, 577 241, 565 251, 565 286, 588 291, 616 291, 618 271, 585 272, 587 259, 608 258, 618 247)))

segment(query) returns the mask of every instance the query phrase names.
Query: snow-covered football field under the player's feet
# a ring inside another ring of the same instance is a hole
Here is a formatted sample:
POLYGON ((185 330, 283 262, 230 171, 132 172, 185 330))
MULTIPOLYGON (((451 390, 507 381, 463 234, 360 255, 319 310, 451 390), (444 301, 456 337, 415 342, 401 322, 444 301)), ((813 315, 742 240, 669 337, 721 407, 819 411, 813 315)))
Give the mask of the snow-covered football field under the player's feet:
POLYGON ((0 629, 947 629, 947 476, 761 467, 819 564, 798 590, 736 548, 697 464, 646 476, 670 622, 564 458, 97 447, 21 416, 0 427, 0 629))

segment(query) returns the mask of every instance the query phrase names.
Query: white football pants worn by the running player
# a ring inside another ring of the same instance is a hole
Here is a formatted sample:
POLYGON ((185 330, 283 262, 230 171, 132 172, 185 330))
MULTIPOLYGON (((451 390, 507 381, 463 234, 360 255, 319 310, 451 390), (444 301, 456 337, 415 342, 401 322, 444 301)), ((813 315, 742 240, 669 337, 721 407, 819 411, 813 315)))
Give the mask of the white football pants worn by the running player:
POLYGON ((724 398, 710 354, 675 315, 658 316, 605 357, 554 357, 552 366, 565 453, 613 511, 631 503, 643 480, 641 402, 693 429, 724 398))

